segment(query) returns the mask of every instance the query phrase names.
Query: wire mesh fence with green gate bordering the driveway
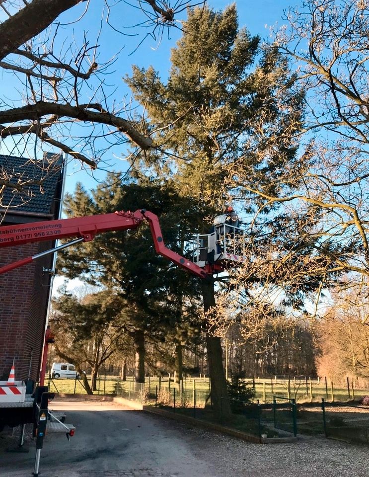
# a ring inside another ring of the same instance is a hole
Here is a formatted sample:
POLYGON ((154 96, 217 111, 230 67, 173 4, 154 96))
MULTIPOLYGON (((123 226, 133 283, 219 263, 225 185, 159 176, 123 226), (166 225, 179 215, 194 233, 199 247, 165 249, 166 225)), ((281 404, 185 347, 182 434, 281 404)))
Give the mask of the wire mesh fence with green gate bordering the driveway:
MULTIPOLYGON (((298 432, 302 434, 325 434, 329 438, 369 444, 369 407, 357 405, 354 402, 327 402, 324 398, 321 399, 321 404, 316 401, 312 402, 312 399, 306 399, 304 403, 297 405, 297 393, 295 393, 295 398, 286 397, 286 394, 294 396, 295 384, 293 384, 293 380, 291 380, 291 385, 290 381, 287 383, 286 389, 281 388, 282 396, 279 393, 274 395, 271 404, 268 404, 266 398, 265 383, 262 383, 263 392, 259 392, 259 396, 256 394, 257 398, 261 397, 261 404, 259 404, 259 399, 254 403, 246 403, 239 399, 226 398, 232 413, 231 415, 224 413, 221 422, 218 419, 217 423, 257 437, 275 437, 278 435, 276 429, 296 436, 298 426, 298 432)), ((311 387, 310 383, 308 384, 310 394, 311 387)), ((49 376, 48 385, 51 392, 71 395, 87 393, 83 380, 80 378, 53 379, 49 376)), ((253 383, 251 383, 252 385, 253 383)), ((305 388, 306 379, 303 385, 305 388)), ((128 380, 121 380, 119 377, 100 375, 93 394, 123 397, 141 404, 155 405, 172 412, 215 423, 210 388, 210 380, 205 376, 187 378, 180 382, 176 382, 170 376, 165 378, 147 377, 145 383, 137 383, 132 377, 128 380)), ((275 383, 274 388, 276 388, 275 383)), ((324 388, 326 387, 324 386, 324 388)), ((328 391, 324 389, 324 391, 324 395, 330 394, 328 393, 329 389, 328 391)), ((346 393, 348 394, 347 389, 346 393)), ((354 388, 352 387, 351 393, 351 396, 354 397, 354 388)), ((225 398, 222 399, 222 402, 225 402, 225 398)))

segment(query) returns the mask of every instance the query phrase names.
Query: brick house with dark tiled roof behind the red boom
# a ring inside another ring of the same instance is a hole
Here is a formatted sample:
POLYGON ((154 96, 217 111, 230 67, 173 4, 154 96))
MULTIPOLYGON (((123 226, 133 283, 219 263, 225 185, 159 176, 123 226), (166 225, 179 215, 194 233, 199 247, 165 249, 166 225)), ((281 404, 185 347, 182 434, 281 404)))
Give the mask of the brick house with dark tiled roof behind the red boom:
MULTIPOLYGON (((8 158, 6 158, 8 159, 8 158)), ((12 158, 21 163, 21 158, 12 158)), ((0 156, 1 165, 1 156, 0 156)), ((24 171, 24 159, 21 163, 24 171)), ((33 168, 33 164, 31 164, 33 168)), ((59 218, 63 182, 63 167, 39 188, 33 197, 15 209, 0 210, 1 226, 27 224, 59 218)), ((0 247, 0 266, 26 258, 54 246, 54 241, 0 247)), ((53 255, 0 275, 0 380, 7 380, 14 359, 15 380, 37 381, 41 366, 53 255)))

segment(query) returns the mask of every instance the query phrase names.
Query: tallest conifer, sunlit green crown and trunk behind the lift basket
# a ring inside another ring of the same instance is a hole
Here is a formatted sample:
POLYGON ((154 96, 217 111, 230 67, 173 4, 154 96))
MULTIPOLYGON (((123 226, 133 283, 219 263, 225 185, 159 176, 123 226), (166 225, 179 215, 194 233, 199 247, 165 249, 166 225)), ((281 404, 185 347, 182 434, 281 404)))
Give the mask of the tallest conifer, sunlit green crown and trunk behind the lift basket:
MULTIPOLYGON (((136 169, 172 180, 180 194, 213 212, 245 196, 245 175, 270 187, 271 174, 278 179, 287 173, 303 95, 291 89, 287 61, 275 49, 262 51, 258 36, 239 29, 235 4, 223 12, 190 9, 171 63, 166 82, 153 67, 133 67, 126 78, 145 107, 143 130, 169 151, 148 153, 136 161, 136 169)), ((205 232, 209 225, 205 216, 201 219, 205 232)), ((214 282, 203 283, 203 298, 211 316, 214 282)), ((207 329, 207 348, 214 408, 226 414, 230 407, 221 404, 227 391, 214 325, 207 329)))

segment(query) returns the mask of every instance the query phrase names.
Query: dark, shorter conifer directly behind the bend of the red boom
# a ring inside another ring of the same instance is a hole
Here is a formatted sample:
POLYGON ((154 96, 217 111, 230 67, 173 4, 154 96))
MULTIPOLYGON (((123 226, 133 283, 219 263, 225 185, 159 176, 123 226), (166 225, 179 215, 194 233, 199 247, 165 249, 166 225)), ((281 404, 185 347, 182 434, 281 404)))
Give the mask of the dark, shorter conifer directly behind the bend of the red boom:
MULTIPOLYGON (((117 175, 110 173, 92 196, 78 184, 74 195, 66 196, 67 215, 147 209, 159 216, 166 244, 185 254, 188 216, 194 215, 194 202, 179 200, 170 187, 149 180, 144 183, 144 179, 142 182, 121 185, 117 175)), ((196 307, 191 303, 186 305, 187 318, 183 319, 183 296, 198 295, 197 280, 155 253, 145 224, 137 230, 102 234, 92 242, 71 247, 60 255, 59 263, 68 277, 83 277, 90 284, 111 289, 123 300, 121 326, 135 344, 137 382, 145 381, 147 337, 154 342, 172 338, 180 344, 186 328, 196 326, 196 307), (186 321, 190 321, 188 326, 186 321)))

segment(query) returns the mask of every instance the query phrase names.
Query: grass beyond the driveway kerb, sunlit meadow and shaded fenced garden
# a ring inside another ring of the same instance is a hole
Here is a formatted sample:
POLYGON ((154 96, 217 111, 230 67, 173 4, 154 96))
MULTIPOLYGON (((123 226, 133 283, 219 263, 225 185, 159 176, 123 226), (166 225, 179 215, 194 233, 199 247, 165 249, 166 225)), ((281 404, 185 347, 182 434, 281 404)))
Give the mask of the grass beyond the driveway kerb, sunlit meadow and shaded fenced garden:
MULTIPOLYGON (((90 377, 88 377, 90 379, 90 377)), ((252 382, 251 382, 252 385, 252 382)), ((259 399, 260 404, 264 403, 264 383, 258 382, 255 383, 256 397, 255 401, 259 399)), ((82 387, 82 382, 74 379, 53 379, 50 381, 50 391, 65 393, 65 394, 85 394, 85 390, 82 387)), ((146 378, 145 385, 140 383, 135 383, 133 378, 130 377, 127 381, 118 380, 114 376, 100 376, 97 381, 97 391, 94 392, 94 395, 110 395, 110 396, 119 396, 125 397, 127 399, 136 400, 145 404, 154 405, 155 404, 155 395, 157 391, 157 405, 163 407, 164 409, 173 410, 173 404, 175 399, 175 412, 183 413, 191 417, 196 417, 197 419, 204 419, 209 422, 215 422, 213 417, 213 412, 210 406, 205 407, 206 399, 209 397, 209 379, 208 378, 196 378, 196 379, 186 379, 183 381, 183 392, 182 392, 182 401, 180 398, 180 392, 178 385, 175 385, 173 381, 168 381, 168 378, 161 379, 158 378, 149 379, 146 378), (119 389, 118 389, 119 388, 119 389), (118 389, 118 392, 117 392, 118 389), (194 411, 194 390, 195 390, 195 404, 196 409, 194 411)), ((278 382, 273 383, 273 394, 271 393, 271 383, 269 381, 269 386, 267 383, 265 385, 265 397, 266 403, 271 403, 273 401, 273 396, 287 397, 288 396, 288 384, 287 382, 278 382)), ((328 393, 328 399, 326 396, 325 385, 322 383, 318 384, 317 382, 312 383, 312 396, 313 403, 310 402, 310 387, 308 387, 309 393, 306 394, 306 386, 297 386, 293 385, 291 382, 291 395, 296 397, 298 403, 297 407, 297 432, 300 434, 307 435, 321 435, 323 434, 323 416, 321 411, 321 398, 325 398, 327 401, 330 401, 331 394, 328 393), (305 405, 303 404, 305 403, 305 405), (314 405, 315 403, 315 405, 314 405)), ((355 397, 358 399, 362 396, 369 395, 368 390, 355 390, 355 397)), ((352 398, 352 394, 350 396, 352 398)), ((334 398, 335 402, 347 402, 348 401, 348 392, 345 388, 334 388, 334 398)), ((278 400, 278 403, 283 403, 287 401, 278 400)), ((351 401, 352 403, 352 401, 351 401)), ((208 404, 210 401, 208 400, 208 404)), ((260 434, 266 434, 267 437, 275 437, 276 435, 283 435, 283 431, 293 432, 293 419, 291 409, 277 408, 276 411, 276 427, 279 429, 276 431, 274 429, 274 412, 272 406, 264 408, 261 406, 261 415, 260 415, 260 424, 258 420, 257 412, 255 411, 256 406, 249 407, 249 410, 243 412, 243 414, 233 414, 228 421, 223 421, 221 424, 233 429, 237 429, 243 432, 246 432, 251 435, 259 436, 260 434), (281 430, 281 431, 280 431, 281 430)), ((337 416, 338 412, 342 411, 342 417, 344 420, 347 419, 348 412, 350 409, 346 406, 339 406, 339 408, 326 408, 326 419, 329 424, 331 420, 331 414, 334 414, 334 417, 337 416)), ((356 412, 356 411, 353 411, 356 412)), ((359 409, 358 409, 359 412, 359 409)), ((365 417, 368 415, 369 422, 369 412, 363 410, 365 417)), ((355 415, 355 420, 358 417, 355 415)), ((361 417, 364 419, 364 417, 361 417)), ((218 422, 219 423, 219 422, 218 422)), ((350 423, 345 424, 348 426, 350 423)), ((364 424, 364 423, 363 423, 364 424)), ((366 424, 366 423, 365 423, 366 424)), ((359 430, 359 429, 358 429, 359 430)))

